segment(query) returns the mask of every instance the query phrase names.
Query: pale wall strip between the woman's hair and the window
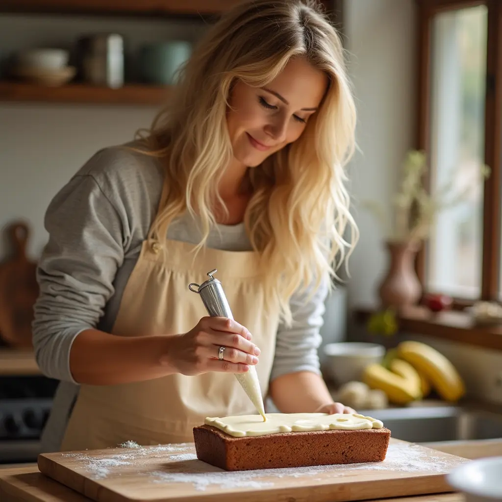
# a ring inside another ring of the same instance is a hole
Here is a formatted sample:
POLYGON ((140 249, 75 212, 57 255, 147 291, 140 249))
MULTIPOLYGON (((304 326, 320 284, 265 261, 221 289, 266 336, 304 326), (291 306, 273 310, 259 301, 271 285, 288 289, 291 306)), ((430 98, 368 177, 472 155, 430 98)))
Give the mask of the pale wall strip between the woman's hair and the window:
POLYGON ((414 0, 347 0, 344 13, 349 73, 358 113, 356 152, 349 169, 354 217, 360 239, 349 260, 350 306, 374 304, 387 266, 385 235, 378 221, 358 205, 390 199, 415 131, 414 0))

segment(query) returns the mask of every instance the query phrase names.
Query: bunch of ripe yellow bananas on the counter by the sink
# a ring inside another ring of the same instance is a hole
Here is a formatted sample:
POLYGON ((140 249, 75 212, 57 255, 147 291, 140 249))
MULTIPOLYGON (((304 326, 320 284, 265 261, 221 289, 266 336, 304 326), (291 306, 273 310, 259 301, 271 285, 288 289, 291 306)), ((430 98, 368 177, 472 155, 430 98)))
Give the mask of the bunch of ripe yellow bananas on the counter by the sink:
POLYGON ((366 366, 361 380, 371 389, 383 390, 391 403, 407 404, 434 389, 446 401, 465 393, 464 383, 453 364, 431 346, 404 341, 388 351, 382 364, 366 366))

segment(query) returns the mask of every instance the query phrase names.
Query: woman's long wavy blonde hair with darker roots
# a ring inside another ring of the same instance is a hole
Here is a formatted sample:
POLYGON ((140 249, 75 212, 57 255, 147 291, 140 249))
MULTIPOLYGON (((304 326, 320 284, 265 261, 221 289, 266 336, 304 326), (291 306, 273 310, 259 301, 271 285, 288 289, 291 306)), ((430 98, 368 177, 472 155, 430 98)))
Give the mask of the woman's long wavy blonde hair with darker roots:
POLYGON ((301 137, 248 170, 253 195, 244 216, 266 271, 266 304, 279 304, 288 325, 291 295, 336 278, 358 239, 344 186, 355 106, 341 40, 322 7, 306 0, 250 0, 225 13, 194 48, 168 106, 142 136, 148 155, 165 166, 166 197, 149 237, 164 238, 169 224, 189 211, 200 218, 200 249, 216 223, 215 202, 224 207, 217 187, 232 159, 226 124, 232 84, 240 79, 266 86, 295 57, 325 72, 328 90, 301 137))

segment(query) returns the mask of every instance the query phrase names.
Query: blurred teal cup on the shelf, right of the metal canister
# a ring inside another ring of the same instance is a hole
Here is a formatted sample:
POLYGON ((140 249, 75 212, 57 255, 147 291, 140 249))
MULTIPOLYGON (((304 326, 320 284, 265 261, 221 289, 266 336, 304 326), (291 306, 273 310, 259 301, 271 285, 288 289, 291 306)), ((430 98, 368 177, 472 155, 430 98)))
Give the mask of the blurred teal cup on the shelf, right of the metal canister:
POLYGON ((173 85, 180 66, 190 58, 192 46, 184 40, 145 44, 140 49, 139 71, 143 82, 173 85))

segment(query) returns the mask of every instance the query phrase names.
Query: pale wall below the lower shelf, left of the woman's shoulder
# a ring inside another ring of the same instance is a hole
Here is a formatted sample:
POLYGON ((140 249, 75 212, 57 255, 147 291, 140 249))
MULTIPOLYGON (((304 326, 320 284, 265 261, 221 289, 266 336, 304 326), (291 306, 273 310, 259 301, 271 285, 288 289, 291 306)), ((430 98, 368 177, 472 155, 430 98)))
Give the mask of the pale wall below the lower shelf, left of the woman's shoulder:
MULTIPOLYGON (((47 239, 44 213, 56 192, 97 149, 132 139, 152 116, 150 108, 0 107, 0 227, 26 219, 29 254, 38 257, 47 239)), ((0 256, 9 250, 5 240, 0 256)))

